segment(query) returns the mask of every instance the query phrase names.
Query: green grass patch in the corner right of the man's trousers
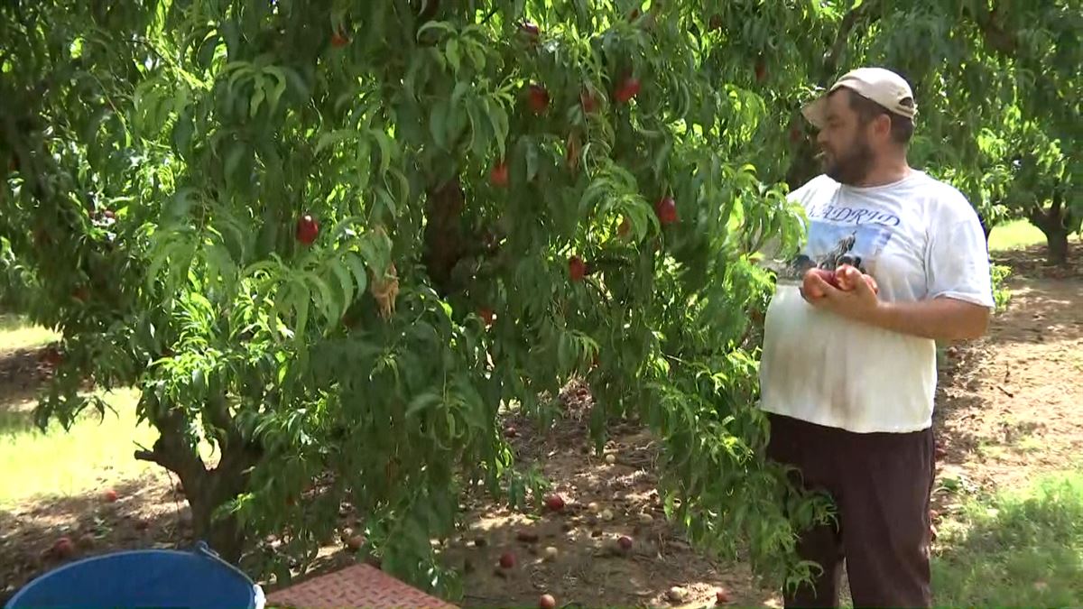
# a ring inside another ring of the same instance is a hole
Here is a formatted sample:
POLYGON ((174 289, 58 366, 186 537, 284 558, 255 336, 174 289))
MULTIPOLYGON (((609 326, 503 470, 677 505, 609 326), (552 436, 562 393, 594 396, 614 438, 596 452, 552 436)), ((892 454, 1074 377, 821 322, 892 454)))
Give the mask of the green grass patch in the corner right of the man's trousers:
POLYGON ((973 502, 945 528, 932 589, 943 607, 1083 605, 1083 474, 973 502))

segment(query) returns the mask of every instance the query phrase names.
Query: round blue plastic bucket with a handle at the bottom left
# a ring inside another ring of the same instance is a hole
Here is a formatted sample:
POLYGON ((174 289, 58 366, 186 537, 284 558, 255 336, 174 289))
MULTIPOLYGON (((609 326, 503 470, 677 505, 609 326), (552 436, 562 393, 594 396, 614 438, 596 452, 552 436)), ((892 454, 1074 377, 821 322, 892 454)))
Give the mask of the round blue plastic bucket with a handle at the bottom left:
POLYGON ((198 542, 191 552, 140 549, 84 558, 18 591, 6 609, 263 609, 263 591, 198 542))

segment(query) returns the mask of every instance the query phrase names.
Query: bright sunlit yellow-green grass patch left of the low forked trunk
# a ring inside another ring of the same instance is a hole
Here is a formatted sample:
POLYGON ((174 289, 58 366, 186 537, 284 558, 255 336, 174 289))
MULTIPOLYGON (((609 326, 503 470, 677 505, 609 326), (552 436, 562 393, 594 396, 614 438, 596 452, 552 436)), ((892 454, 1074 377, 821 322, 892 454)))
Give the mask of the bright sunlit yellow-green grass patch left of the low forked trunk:
POLYGON ((0 507, 36 496, 73 496, 99 489, 106 481, 138 477, 158 466, 132 457, 134 442, 149 446, 157 433, 135 425, 138 393, 107 397, 116 412, 84 413, 70 431, 50 424, 42 432, 32 422, 32 401, 0 403, 0 507))

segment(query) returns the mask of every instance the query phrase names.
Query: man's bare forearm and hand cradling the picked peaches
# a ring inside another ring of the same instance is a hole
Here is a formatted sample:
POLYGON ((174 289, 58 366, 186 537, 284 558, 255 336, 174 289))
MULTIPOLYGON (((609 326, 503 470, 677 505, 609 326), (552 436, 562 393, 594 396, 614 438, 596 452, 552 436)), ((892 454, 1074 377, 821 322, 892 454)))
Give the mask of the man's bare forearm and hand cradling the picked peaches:
POLYGON ((934 340, 969 340, 982 336, 989 327, 988 307, 949 297, 886 302, 861 280, 860 271, 851 267, 844 272, 854 274, 850 277, 854 289, 843 291, 814 276, 812 281, 817 282, 823 296, 810 298, 806 295, 806 300, 844 318, 934 340))

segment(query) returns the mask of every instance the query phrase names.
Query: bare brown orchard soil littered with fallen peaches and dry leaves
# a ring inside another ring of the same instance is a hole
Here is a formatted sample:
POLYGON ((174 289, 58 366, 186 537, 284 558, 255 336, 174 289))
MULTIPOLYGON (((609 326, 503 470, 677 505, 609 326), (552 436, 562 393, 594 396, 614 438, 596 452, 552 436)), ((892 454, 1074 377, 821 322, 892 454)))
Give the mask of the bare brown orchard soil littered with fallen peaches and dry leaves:
MULTIPOLYGON (((961 493, 992 492, 1078 466, 1083 448, 1083 252, 1075 251, 1067 268, 1044 265, 1036 247, 994 260, 1014 269, 1013 301, 986 338, 949 348, 940 371, 935 426, 942 452, 934 504, 941 518, 960 508, 961 493)), ((9 397, 32 391, 40 383, 32 375, 48 374, 38 370, 40 357, 2 354, 0 409, 9 397)), ((464 606, 537 606, 548 593, 558 606, 703 607, 714 604, 719 588, 733 605, 781 606, 746 567, 702 556, 665 522, 653 492, 655 446, 644 429, 630 422, 616 426, 604 456, 596 456, 583 419, 589 393, 572 386, 562 398, 566 416, 548 430, 525 420, 509 424, 520 462, 538 464, 566 505, 530 518, 468 497, 471 530, 446 548, 451 565, 464 572, 464 606), (621 535, 631 539, 630 549, 616 545, 621 535), (556 548, 556 558, 547 547, 556 548), (516 556, 513 569, 497 568, 506 550, 516 556), (675 586, 679 595, 671 597, 675 586)), ((102 479, 110 483, 108 472, 102 479)), ((0 601, 65 560, 191 544, 187 507, 165 472, 112 483, 120 497, 115 503, 41 498, 0 509, 0 601), (76 545, 67 558, 51 549, 62 535, 76 545)), ((318 571, 352 560, 340 548, 325 554, 318 571)))

